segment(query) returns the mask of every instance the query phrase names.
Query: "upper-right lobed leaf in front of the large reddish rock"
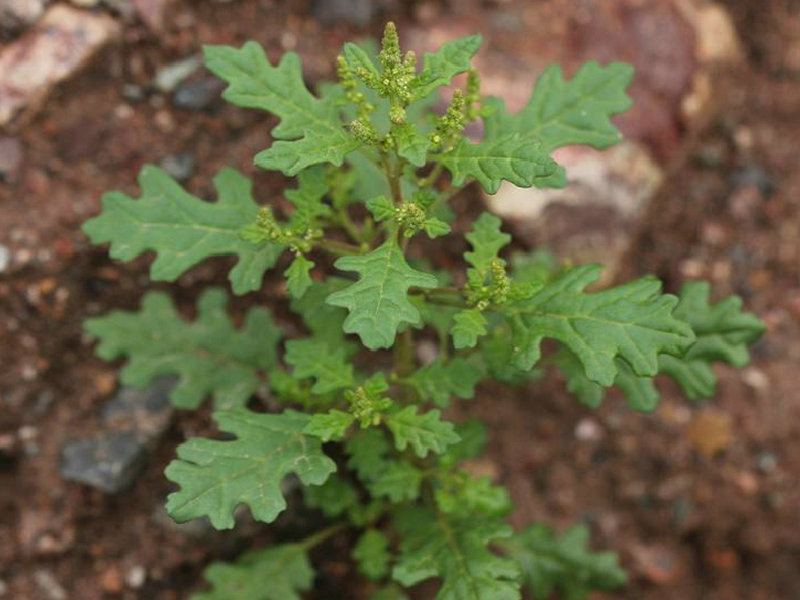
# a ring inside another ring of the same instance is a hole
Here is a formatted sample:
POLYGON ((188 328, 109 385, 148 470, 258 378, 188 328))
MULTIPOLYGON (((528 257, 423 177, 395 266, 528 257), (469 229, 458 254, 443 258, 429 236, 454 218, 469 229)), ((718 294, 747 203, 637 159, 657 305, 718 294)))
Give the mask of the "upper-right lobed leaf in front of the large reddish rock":
POLYGON ((524 131, 526 137, 541 140, 546 152, 573 144, 607 148, 622 137, 610 118, 631 107, 625 90, 632 78, 631 65, 614 62, 601 67, 592 61, 567 82, 561 68, 552 65, 519 113, 509 116, 501 105, 487 129, 493 135, 524 131))

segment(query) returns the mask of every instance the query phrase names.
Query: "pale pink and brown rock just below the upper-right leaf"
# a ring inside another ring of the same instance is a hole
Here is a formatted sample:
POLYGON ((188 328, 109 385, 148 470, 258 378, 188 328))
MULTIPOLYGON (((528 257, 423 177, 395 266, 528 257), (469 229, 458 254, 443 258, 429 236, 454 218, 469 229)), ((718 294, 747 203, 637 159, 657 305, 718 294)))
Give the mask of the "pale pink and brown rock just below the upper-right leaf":
POLYGON ((580 262, 602 262, 604 278, 611 279, 663 172, 643 147, 630 142, 604 152, 564 148, 555 158, 566 167, 570 185, 539 190, 504 182, 487 197, 489 208, 509 219, 532 246, 580 262))

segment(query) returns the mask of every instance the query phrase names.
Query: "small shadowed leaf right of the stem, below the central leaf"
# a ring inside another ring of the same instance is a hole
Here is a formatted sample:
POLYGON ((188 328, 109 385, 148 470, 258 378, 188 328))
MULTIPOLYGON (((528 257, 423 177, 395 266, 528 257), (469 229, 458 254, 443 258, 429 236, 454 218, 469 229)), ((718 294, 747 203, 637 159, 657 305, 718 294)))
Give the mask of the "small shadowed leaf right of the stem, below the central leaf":
POLYGON ((411 375, 405 383, 413 387, 422 400, 431 400, 445 408, 450 397, 464 400, 475 396, 475 386, 483 379, 483 365, 464 358, 454 358, 449 362, 437 360, 424 366, 411 375))

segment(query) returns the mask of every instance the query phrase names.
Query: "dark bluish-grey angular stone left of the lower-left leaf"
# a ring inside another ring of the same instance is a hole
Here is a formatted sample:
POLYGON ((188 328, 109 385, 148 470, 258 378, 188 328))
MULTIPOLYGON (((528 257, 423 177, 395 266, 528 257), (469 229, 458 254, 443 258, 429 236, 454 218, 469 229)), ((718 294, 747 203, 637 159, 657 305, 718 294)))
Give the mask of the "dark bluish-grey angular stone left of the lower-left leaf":
POLYGON ((60 472, 65 479, 107 494, 133 484, 146 456, 134 432, 111 432, 90 439, 70 440, 61 450, 60 472))

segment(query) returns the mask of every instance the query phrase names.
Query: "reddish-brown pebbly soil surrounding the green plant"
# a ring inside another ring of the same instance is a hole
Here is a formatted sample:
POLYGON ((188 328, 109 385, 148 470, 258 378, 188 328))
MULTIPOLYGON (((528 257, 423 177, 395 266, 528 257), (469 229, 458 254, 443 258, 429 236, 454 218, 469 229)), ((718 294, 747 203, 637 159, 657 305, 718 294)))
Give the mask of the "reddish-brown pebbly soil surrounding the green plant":
MULTIPOLYGON (((134 101, 125 90, 147 88, 157 65, 207 40, 252 38, 273 56, 293 48, 313 81, 330 74, 327 57, 343 41, 377 32, 322 26, 303 2, 277 4, 187 0, 158 36, 128 25, 121 43, 14 134, 24 164, 15 181, 0 182, 0 241, 14 256, 0 275, 0 582, 7 588, 0 597, 50 600, 60 586, 82 600, 187 598, 209 560, 233 557, 275 531, 296 536, 313 518, 295 515, 269 534, 253 524, 224 533, 170 525, 160 508, 169 489, 162 471, 177 443, 208 429, 204 411, 180 414, 145 473, 119 496, 58 474, 61 446, 97 429, 116 385, 118 365, 93 356, 82 320, 133 308, 145 289, 164 287, 148 281, 148 258, 113 263, 80 233, 101 194, 135 194, 145 162, 187 151, 199 168, 186 185, 199 195, 212 196, 211 177, 223 165, 252 174, 265 201, 284 184, 251 167, 269 125, 253 111, 222 103, 180 110, 163 94, 145 91, 134 101), (135 581, 142 569, 144 581, 135 581)), ((381 16, 411 23, 422 14, 418 4, 386 3, 381 16)), ((646 416, 618 397, 589 411, 556 378, 519 390, 484 386, 483 400, 468 408, 492 431, 489 456, 475 468, 509 487, 515 525, 582 520, 596 547, 620 553, 630 585, 608 597, 796 600, 800 593, 800 2, 728 0, 727 8, 746 63, 720 74, 724 105, 669 164, 624 270, 655 273, 670 291, 703 277, 715 296, 742 296, 768 326, 752 366, 720 369, 717 396, 702 406, 663 382, 664 399, 646 416)), ((475 190, 461 199, 478 201, 475 190)), ((224 284, 223 266, 211 261, 168 289, 190 307, 201 287, 224 284)), ((235 307, 275 305, 276 285, 268 280, 235 307)), ((347 543, 336 538, 315 554, 315 598, 366 597, 351 583, 347 543)), ((429 597, 426 589, 417 597, 429 597)))

